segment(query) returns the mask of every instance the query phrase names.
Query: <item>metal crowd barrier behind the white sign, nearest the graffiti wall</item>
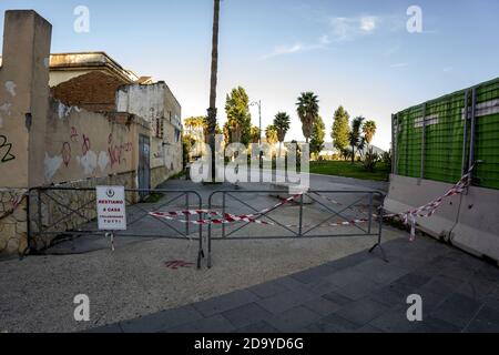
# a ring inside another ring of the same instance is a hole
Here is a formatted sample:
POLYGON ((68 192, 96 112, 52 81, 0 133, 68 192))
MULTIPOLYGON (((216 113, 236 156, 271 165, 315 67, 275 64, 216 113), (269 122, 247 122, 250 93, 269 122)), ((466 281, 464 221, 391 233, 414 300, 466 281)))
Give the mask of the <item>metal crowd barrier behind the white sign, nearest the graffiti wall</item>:
MULTIPOLYGON (((180 205, 181 209, 202 207, 201 195, 195 191, 162 189, 125 189, 126 231, 100 231, 96 227, 96 196, 94 187, 35 187, 28 193, 28 243, 31 248, 50 245, 54 239, 74 239, 83 235, 113 237, 176 239, 198 242, 197 267, 201 267, 203 227, 190 223, 179 226, 174 221, 150 214, 162 207, 180 205), (141 199, 160 196, 157 201, 141 199), (166 233, 165 231, 169 231, 166 233), (197 236, 196 236, 197 235, 197 236)), ((200 219, 203 215, 198 216, 200 219)), ((189 221, 191 217, 186 216, 189 221)))

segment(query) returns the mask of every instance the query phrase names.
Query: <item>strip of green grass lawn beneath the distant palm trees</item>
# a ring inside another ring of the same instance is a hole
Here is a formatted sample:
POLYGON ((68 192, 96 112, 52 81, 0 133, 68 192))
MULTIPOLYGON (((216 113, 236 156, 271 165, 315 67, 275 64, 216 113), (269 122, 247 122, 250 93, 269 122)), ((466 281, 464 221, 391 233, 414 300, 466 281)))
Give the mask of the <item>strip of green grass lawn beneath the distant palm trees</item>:
POLYGON ((363 164, 345 161, 310 162, 310 173, 323 175, 336 175, 361 180, 388 181, 390 168, 379 162, 374 172, 368 172, 363 164))

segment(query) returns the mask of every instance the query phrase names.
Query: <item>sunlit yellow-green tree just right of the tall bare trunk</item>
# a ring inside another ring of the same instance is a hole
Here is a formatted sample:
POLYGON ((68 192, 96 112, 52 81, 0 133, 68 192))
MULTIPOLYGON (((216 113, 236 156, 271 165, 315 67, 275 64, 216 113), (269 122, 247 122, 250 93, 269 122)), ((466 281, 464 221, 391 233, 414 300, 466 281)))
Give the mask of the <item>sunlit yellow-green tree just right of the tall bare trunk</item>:
POLYGON ((225 113, 231 130, 230 142, 249 143, 252 115, 249 113, 249 97, 242 87, 237 87, 227 94, 225 113))

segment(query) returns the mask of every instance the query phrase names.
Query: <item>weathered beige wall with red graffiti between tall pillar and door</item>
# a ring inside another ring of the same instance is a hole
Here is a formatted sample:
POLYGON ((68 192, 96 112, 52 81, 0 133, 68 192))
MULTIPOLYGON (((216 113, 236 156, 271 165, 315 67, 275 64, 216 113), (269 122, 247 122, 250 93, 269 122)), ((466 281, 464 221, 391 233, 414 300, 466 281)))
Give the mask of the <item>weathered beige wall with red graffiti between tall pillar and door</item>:
POLYGON ((128 116, 128 123, 52 101, 44 184, 135 171, 139 134, 149 134, 149 128, 135 115, 122 115, 128 116))

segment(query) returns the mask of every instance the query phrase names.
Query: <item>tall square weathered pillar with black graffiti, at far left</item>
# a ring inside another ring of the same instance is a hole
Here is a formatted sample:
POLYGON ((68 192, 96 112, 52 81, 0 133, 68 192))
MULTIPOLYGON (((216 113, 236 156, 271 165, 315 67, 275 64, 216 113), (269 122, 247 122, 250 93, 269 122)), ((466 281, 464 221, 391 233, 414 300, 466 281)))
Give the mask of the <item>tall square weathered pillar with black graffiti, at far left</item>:
POLYGON ((0 70, 0 254, 27 246, 26 191, 42 182, 52 27, 7 11, 0 70))

